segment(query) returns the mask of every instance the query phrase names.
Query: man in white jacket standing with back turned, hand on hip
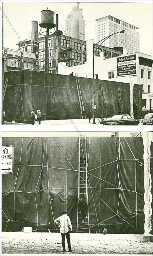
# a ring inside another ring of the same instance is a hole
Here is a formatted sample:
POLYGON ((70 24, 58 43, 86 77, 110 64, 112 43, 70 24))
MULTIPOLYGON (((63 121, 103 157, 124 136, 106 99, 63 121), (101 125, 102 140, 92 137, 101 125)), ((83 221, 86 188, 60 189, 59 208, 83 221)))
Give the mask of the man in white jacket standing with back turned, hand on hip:
POLYGON ((65 236, 66 236, 66 239, 67 239, 69 252, 72 252, 71 242, 70 242, 70 233, 72 233, 72 224, 71 224, 69 216, 67 216, 67 210, 63 210, 62 211, 62 216, 58 217, 56 220, 54 220, 54 222, 55 222, 56 225, 58 225, 58 227, 60 227, 60 233, 62 235, 63 252, 66 252, 66 250, 65 250, 65 236))

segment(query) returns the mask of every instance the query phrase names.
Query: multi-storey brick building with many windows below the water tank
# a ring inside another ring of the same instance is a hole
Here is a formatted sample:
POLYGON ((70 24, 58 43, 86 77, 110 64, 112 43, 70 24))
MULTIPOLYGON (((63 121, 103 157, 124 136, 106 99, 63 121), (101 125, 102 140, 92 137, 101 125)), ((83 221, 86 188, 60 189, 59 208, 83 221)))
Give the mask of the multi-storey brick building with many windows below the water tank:
MULTIPOLYGON (((39 71, 45 71, 45 37, 38 37, 38 22, 32 21, 32 40, 18 42, 18 50, 35 52, 39 54, 39 71), (35 36, 36 35, 36 36, 35 36)), ((86 41, 63 35, 58 30, 48 38, 48 73, 58 74, 58 63, 66 62, 68 67, 82 65, 87 60, 86 41)), ((98 46, 97 46, 98 47, 98 46)), ((100 56, 104 52, 104 57, 112 58, 122 54, 122 47, 108 48, 100 46, 95 55, 100 56)))

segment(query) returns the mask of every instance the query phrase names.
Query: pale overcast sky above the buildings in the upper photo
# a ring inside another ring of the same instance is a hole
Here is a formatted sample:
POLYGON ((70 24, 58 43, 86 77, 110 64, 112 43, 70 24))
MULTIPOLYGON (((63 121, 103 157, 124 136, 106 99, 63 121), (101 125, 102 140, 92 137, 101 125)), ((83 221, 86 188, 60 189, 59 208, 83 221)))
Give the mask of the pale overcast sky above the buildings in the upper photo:
MULTIPOLYGON (((58 29, 62 30, 63 34, 65 34, 65 19, 67 19, 67 15, 71 12, 72 7, 77 5, 77 2, 74 1, 3 2, 5 14, 4 47, 11 49, 17 49, 16 44, 18 41, 28 39, 28 32, 31 32, 31 21, 41 21, 40 12, 46 10, 47 7, 55 14, 58 14, 59 23, 61 24, 59 24, 58 29), (20 39, 18 36, 20 36, 20 39)), ((81 8, 83 9, 82 14, 86 24, 86 40, 95 39, 95 23, 97 22, 95 19, 112 15, 138 27, 140 33, 140 52, 152 55, 152 1, 80 1, 81 8)))

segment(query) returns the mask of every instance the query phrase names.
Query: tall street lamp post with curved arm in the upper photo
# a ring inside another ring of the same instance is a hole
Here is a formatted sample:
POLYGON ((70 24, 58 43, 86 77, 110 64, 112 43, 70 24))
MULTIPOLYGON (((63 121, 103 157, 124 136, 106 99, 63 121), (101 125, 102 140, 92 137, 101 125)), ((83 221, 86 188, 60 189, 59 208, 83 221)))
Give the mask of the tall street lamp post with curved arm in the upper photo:
MULTIPOLYGON (((121 33, 123 34, 125 30, 121 30, 121 31, 118 31, 112 35, 115 35, 117 33, 121 33)), ((97 49, 112 35, 108 35, 106 37, 104 37, 102 40, 100 40, 98 43, 100 43, 102 41, 102 43, 97 47, 97 49)), ((92 57, 93 57, 93 99, 94 99, 94 104, 95 104, 95 62, 94 62, 94 57, 95 57, 95 52, 97 51, 94 51, 94 47, 95 45, 97 45, 98 43, 96 44, 93 44, 93 53, 92 53, 92 57)), ((93 109, 94 110, 94 109, 93 109)), ((95 122, 95 111, 93 112, 93 123, 92 124, 95 124, 96 125, 96 122, 95 122)))

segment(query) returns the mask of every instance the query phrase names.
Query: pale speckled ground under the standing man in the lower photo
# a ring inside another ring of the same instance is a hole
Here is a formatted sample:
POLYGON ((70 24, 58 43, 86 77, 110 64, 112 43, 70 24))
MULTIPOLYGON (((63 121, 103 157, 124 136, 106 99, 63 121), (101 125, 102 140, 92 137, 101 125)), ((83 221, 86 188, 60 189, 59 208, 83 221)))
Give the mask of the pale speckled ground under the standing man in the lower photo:
MULTIPOLYGON (((2 232, 1 255, 60 255, 60 233, 2 232)), ((152 255, 152 242, 142 242, 130 235, 70 234, 72 252, 65 255, 152 255)))

